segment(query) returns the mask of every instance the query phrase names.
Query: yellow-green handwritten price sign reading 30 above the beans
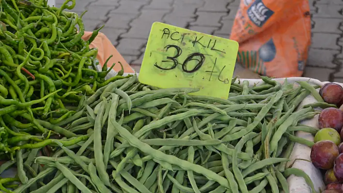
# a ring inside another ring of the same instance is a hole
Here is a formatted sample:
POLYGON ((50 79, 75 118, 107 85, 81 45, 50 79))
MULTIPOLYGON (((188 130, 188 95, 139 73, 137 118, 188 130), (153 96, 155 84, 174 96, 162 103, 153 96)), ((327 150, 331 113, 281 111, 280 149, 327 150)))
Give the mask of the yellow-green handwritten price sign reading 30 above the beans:
POLYGON ((238 43, 155 22, 139 80, 158 88, 200 88, 195 95, 227 99, 238 43))

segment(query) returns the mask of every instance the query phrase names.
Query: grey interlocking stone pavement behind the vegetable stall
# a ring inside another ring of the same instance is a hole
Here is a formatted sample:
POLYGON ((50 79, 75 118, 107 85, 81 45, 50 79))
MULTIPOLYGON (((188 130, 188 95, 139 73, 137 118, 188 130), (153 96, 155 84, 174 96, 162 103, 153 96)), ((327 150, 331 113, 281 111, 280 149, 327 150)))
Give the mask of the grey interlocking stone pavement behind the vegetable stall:
MULTIPOLYGON (((56 0, 59 7, 64 0, 56 0)), ((343 83, 343 0, 309 0, 312 45, 304 76, 343 83)), ((77 0, 88 31, 101 30, 139 71, 151 25, 164 22, 228 38, 240 0, 77 0)))

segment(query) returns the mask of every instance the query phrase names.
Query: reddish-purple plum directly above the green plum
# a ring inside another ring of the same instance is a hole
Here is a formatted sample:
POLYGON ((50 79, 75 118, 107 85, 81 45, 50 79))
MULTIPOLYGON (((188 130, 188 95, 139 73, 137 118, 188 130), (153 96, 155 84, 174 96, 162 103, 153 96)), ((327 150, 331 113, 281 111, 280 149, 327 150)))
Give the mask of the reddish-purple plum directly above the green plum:
POLYGON ((338 133, 343 127, 343 111, 338 108, 329 107, 324 109, 318 117, 319 128, 333 128, 338 133))

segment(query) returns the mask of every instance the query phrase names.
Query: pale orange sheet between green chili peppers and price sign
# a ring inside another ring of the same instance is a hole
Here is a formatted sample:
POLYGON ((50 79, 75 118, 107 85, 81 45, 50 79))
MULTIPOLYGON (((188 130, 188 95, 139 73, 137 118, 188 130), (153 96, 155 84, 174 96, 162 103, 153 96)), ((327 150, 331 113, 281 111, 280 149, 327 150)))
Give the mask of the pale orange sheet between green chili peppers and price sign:
MULTIPOLYGON (((92 36, 92 32, 86 31, 85 34, 82 36, 82 39, 88 40, 92 36)), ((94 39, 91 45, 91 48, 98 49, 98 56, 97 59, 99 60, 101 66, 106 62, 110 55, 113 55, 109 62, 107 63, 107 67, 111 67, 113 63, 116 63, 113 70, 119 72, 122 68, 118 61, 120 61, 124 66, 125 73, 135 73, 135 71, 131 68, 131 66, 125 61, 123 56, 118 52, 118 50, 112 45, 109 38, 106 37, 105 34, 99 33, 98 36, 94 39)))

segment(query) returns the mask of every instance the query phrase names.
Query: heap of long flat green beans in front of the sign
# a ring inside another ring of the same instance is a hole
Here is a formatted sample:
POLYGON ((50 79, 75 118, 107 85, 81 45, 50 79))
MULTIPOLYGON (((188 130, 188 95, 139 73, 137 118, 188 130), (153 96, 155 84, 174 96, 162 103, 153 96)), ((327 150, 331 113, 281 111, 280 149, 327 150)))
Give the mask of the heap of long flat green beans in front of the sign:
MULTIPOLYGON (((296 108, 317 87, 262 79, 233 83, 228 100, 157 89, 136 75, 117 80, 55 125, 86 137, 53 141, 49 156, 22 149, 0 174, 16 164, 15 193, 289 193, 290 175, 315 193, 311 178, 286 163, 295 143, 313 145, 295 132, 318 131, 299 122, 328 104, 296 108)), ((5 192, 11 185, 0 181, 5 192)))

